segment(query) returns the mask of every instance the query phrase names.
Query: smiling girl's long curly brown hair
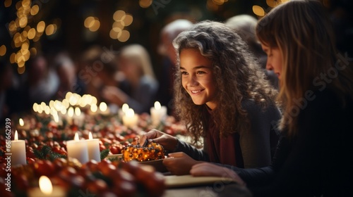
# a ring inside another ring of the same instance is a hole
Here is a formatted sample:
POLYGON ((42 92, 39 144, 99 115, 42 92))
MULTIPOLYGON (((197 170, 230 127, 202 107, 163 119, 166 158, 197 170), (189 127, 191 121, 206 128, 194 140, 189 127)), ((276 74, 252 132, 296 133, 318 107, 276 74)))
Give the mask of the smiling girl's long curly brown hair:
POLYGON ((196 49, 213 62, 214 82, 217 87, 213 110, 213 124, 220 136, 249 129, 249 118, 242 108, 243 101, 253 99, 260 106, 275 104, 277 91, 265 80, 265 72, 255 61, 246 43, 223 23, 205 20, 174 39, 177 68, 174 81, 175 112, 184 120, 193 142, 205 136, 208 129, 208 110, 193 103, 181 84, 180 57, 183 49, 196 49))

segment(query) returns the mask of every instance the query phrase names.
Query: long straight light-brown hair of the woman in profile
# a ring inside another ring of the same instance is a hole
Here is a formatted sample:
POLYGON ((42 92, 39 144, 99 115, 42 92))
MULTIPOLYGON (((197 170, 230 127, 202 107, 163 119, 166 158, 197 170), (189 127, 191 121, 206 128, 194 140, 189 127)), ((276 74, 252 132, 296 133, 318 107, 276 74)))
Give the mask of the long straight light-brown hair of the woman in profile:
POLYGON ((287 129, 289 135, 297 132, 297 116, 304 108, 302 102, 309 91, 334 87, 337 94, 342 96, 349 92, 352 96, 352 80, 349 79, 352 70, 347 67, 341 72, 342 62, 337 61, 332 30, 328 13, 316 0, 280 4, 256 26, 256 36, 261 43, 280 49, 282 53, 277 99, 284 109, 280 129, 287 129), (330 79, 332 82, 321 81, 321 76, 330 75, 330 72, 337 72, 337 76, 330 79))

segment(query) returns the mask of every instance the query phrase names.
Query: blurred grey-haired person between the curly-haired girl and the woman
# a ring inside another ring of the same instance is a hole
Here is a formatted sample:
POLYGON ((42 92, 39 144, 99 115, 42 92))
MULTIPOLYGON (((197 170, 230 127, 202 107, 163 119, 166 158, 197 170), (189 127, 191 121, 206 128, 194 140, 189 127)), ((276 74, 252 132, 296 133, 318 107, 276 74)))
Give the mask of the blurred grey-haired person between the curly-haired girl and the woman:
POLYGON ((261 68, 263 68, 268 80, 270 80, 275 89, 278 89, 277 75, 272 70, 266 70, 267 56, 261 49, 260 42, 256 39, 256 23, 258 23, 258 20, 255 17, 246 14, 234 15, 232 18, 225 20, 225 25, 231 27, 249 45, 249 49, 258 58, 258 62, 261 64, 261 68))

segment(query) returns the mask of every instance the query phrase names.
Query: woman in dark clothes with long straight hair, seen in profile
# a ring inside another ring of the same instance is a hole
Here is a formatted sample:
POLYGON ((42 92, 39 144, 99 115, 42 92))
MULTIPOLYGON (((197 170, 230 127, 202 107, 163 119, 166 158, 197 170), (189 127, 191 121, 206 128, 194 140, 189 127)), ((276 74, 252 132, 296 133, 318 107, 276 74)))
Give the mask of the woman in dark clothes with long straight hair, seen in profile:
POLYGON ((253 196, 352 196, 352 58, 336 51, 325 8, 316 0, 280 4, 258 22, 256 35, 280 80, 273 164, 229 170, 201 163, 191 174, 232 177, 253 196))

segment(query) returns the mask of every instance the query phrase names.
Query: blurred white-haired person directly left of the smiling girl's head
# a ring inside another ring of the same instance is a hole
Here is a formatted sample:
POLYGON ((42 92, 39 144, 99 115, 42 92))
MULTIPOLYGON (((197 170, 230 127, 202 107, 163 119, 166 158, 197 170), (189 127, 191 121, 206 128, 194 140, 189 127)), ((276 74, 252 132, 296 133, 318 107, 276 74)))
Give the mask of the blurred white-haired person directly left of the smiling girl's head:
POLYGON ((192 25, 193 23, 190 20, 177 19, 167 23, 160 32, 158 53, 163 56, 163 61, 157 100, 160 101, 162 106, 167 106, 169 115, 172 115, 173 109, 174 66, 177 65, 177 53, 172 42, 180 32, 188 30, 192 25))

